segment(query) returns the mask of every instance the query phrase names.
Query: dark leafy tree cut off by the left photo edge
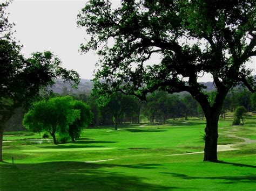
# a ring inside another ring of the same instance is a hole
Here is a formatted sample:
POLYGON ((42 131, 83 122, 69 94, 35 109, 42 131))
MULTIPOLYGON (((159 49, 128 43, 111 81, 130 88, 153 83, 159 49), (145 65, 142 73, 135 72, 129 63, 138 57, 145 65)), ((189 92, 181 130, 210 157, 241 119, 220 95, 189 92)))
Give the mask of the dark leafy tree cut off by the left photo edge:
POLYGON ((5 12, 8 4, 0 4, 0 161, 6 122, 15 108, 28 103, 57 78, 79 82, 78 74, 62 68, 61 61, 51 52, 33 53, 29 59, 22 56, 21 45, 12 37, 13 24, 5 12))

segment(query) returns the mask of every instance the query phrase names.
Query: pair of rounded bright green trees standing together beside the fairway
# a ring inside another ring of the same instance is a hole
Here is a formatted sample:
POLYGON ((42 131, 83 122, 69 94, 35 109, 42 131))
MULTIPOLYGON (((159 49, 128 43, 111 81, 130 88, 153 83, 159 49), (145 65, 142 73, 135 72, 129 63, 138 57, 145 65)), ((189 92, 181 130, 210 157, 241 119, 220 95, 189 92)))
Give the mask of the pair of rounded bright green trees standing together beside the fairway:
POLYGON ((82 128, 91 123, 90 107, 70 96, 53 97, 33 104, 23 119, 23 125, 33 132, 48 132, 57 144, 56 133, 79 138, 82 128))

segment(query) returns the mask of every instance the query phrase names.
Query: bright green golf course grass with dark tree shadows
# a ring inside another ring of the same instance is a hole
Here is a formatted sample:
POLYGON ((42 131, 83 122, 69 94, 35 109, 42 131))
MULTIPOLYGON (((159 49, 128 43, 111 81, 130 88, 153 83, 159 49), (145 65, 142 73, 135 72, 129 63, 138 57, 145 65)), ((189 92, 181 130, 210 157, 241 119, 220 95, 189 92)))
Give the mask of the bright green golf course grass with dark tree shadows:
MULTIPOLYGON (((231 119, 220 120, 219 144, 242 142, 225 136, 234 130, 231 123, 231 119)), ((166 156, 203 151, 204 127, 205 122, 197 119, 126 124, 118 131, 110 127, 86 129, 75 143, 4 146, 0 189, 255 190, 255 143, 239 145, 241 150, 219 152, 218 163, 203 162, 203 154, 166 156), (105 159, 115 160, 86 162, 105 159)), ((235 129, 233 134, 256 140, 255 116, 235 129)), ((14 135, 4 140, 28 137, 14 135)))

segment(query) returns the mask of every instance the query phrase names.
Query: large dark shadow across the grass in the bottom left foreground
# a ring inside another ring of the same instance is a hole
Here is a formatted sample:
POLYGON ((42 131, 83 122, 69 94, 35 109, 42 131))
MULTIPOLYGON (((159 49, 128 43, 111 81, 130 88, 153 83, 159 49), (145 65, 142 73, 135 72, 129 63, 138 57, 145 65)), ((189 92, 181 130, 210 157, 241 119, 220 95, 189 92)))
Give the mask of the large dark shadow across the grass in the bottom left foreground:
POLYGON ((14 166, 0 165, 0 189, 163 190, 177 188, 146 183, 145 178, 127 175, 118 167, 149 168, 150 166, 92 164, 74 161, 14 166), (109 168, 115 167, 117 169, 111 172, 109 168))

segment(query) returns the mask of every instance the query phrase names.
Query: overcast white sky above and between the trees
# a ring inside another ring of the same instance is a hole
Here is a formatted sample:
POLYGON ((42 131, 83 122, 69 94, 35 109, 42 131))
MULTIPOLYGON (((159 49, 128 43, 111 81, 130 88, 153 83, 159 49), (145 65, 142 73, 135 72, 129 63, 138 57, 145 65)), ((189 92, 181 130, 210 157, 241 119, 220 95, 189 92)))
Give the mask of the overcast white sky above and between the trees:
MULTIPOLYGON (((85 29, 78 29, 76 18, 85 2, 14 0, 8 7, 9 20, 16 24, 15 37, 24 46, 22 53, 29 57, 32 52, 52 51, 62 60, 65 68, 76 70, 83 79, 92 79, 97 55, 93 52, 81 55, 78 52, 79 45, 85 42, 86 33, 85 29)), ((112 0, 113 5, 118 2, 112 0)), ((254 57, 250 64, 254 70, 255 60, 254 57)), ((200 81, 211 81, 211 78, 204 76, 200 81)))

